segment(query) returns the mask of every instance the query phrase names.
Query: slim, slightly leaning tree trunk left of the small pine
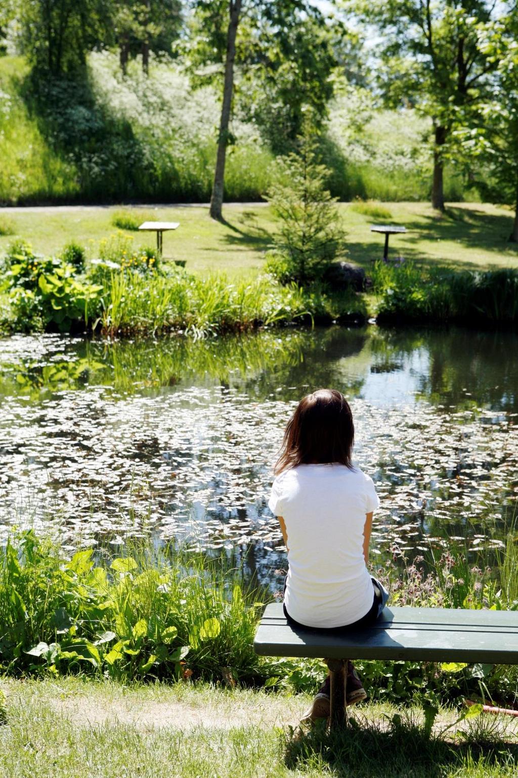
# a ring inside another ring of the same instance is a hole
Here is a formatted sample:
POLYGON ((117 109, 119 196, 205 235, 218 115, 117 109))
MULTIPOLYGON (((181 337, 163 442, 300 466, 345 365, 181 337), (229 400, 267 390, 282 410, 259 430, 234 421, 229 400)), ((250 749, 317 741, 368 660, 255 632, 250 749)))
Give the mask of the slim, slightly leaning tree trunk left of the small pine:
POLYGON ((223 103, 221 104, 220 131, 217 136, 216 170, 214 170, 214 185, 210 198, 210 216, 221 221, 223 215, 224 165, 227 156, 228 122, 232 105, 234 89, 235 37, 238 33, 239 14, 242 0, 230 0, 230 22, 227 32, 227 58, 224 69, 223 103))

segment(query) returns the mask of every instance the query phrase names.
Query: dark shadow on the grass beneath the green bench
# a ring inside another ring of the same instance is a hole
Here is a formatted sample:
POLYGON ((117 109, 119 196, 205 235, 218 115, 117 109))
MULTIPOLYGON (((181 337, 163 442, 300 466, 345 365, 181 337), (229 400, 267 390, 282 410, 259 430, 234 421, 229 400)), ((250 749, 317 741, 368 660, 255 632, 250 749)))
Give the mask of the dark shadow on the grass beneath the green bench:
POLYGON ((412 716, 374 724, 351 719, 346 731, 339 733, 315 727, 306 734, 290 734, 284 760, 288 769, 311 766, 340 778, 439 778, 466 766, 474 773, 481 769, 477 774, 491 773, 494 766, 505 769, 502 775, 513 775, 518 770, 518 744, 503 741, 492 722, 468 729, 457 743, 430 737, 412 716))

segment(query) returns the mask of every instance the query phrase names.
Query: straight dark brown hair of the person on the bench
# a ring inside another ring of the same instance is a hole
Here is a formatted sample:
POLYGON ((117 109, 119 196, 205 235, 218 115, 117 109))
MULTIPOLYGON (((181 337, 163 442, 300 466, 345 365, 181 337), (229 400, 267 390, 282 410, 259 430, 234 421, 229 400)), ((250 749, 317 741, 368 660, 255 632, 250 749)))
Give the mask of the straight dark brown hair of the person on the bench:
POLYGON ((274 472, 332 462, 353 469, 353 445, 353 414, 346 398, 335 389, 318 389, 301 399, 287 423, 274 472))

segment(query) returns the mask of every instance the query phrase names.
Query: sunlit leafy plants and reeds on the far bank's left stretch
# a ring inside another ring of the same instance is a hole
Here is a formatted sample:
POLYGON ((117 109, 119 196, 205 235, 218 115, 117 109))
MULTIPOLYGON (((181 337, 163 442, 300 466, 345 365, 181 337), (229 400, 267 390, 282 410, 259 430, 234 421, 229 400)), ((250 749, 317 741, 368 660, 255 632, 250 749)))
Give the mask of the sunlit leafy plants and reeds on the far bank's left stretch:
POLYGON ((4 281, 15 319, 9 328, 74 331, 92 325, 110 336, 170 331, 200 336, 367 317, 364 300, 348 290, 280 286, 267 275, 237 283, 221 273, 200 278, 177 265, 160 265, 155 249, 134 250, 123 233, 103 240, 99 253, 79 278, 61 258, 43 258, 29 244, 13 244, 4 281))

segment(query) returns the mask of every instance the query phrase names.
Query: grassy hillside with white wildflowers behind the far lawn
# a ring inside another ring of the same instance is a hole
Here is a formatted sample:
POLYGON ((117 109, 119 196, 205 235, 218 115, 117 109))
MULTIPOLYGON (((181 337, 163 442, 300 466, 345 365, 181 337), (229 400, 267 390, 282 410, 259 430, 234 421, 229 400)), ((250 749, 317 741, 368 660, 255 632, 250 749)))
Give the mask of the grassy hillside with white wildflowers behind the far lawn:
MULTIPOLYGON (((86 83, 46 79, 36 89, 26 70, 21 58, 0 59, 0 203, 210 198, 218 119, 213 86, 192 91, 167 58, 155 61, 148 77, 130 62, 123 77, 118 58, 99 51, 89 55, 86 83)), ((245 92, 243 109, 252 86, 245 92)), ((238 112, 232 122, 228 200, 259 200, 271 180, 266 125, 259 131, 255 122, 243 121, 248 115, 238 112)), ((413 108, 382 110, 366 89, 342 89, 329 103, 320 149, 332 171, 330 191, 342 200, 425 200, 431 160, 423 138, 429 132, 429 122, 413 108)), ((489 184, 486 167, 471 161, 470 175, 489 184)), ((447 198, 465 199, 460 171, 457 177, 452 171, 445 170, 447 198)), ((492 184, 492 197, 499 192, 501 200, 502 187, 492 184)))

